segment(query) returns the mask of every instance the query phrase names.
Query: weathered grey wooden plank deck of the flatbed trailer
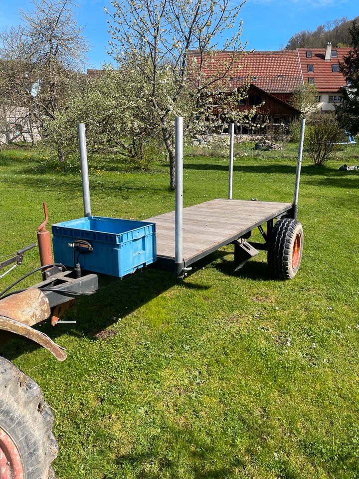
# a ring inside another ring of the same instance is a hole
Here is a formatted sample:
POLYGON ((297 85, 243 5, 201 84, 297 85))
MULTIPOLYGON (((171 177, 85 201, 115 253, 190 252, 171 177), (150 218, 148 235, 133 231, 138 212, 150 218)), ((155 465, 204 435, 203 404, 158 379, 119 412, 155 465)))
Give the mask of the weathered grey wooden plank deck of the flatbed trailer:
MULTIPOLYGON (((211 200, 183 209, 183 262, 188 266, 292 209, 291 203, 211 200)), ((175 212, 148 218, 156 223, 158 267, 175 262, 175 212)))

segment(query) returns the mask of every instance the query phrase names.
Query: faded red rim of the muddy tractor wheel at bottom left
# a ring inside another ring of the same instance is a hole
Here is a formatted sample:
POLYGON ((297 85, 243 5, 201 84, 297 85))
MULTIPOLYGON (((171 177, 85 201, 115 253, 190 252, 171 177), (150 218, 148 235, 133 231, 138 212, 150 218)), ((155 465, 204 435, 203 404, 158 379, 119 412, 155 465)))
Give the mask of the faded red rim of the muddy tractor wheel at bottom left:
POLYGON ((0 428, 0 477, 24 479, 20 453, 10 436, 0 428))

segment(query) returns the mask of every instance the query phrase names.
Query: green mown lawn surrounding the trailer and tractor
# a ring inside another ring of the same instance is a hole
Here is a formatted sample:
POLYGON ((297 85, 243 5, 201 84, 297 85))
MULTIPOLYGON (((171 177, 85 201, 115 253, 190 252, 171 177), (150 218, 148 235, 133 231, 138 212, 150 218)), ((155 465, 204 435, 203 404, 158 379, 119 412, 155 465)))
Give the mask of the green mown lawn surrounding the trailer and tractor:
MULTIPOLYGON (((233 198, 290 202, 295 146, 237 152, 233 198), (243 153, 243 152, 242 152, 243 153)), ((192 152, 193 153, 193 152, 192 152)), ((23 341, 4 352, 55 412, 59 479, 359 478, 359 172, 349 148, 318 169, 304 159, 297 276, 269 277, 265 252, 232 272, 230 246, 177 281, 148 269, 76 300, 42 326, 68 359, 23 341)), ((173 209, 168 167, 90 161, 93 214, 143 219, 173 209)), ((228 162, 186 156, 184 204, 227 194, 228 162)), ((82 216, 78 164, 31 150, 0 155, 0 254, 51 223, 82 216)), ((35 250, 0 289, 38 265, 35 250)), ((24 282, 30 285, 38 280, 24 282)))

